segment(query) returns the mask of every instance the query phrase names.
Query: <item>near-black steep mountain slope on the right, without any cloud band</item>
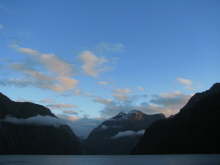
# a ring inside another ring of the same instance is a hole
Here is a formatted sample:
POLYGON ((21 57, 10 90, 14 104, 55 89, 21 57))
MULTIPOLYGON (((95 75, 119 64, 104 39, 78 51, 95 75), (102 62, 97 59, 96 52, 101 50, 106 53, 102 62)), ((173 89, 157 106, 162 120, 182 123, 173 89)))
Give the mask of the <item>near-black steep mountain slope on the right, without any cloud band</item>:
POLYGON ((134 154, 220 153, 220 83, 146 129, 134 154))

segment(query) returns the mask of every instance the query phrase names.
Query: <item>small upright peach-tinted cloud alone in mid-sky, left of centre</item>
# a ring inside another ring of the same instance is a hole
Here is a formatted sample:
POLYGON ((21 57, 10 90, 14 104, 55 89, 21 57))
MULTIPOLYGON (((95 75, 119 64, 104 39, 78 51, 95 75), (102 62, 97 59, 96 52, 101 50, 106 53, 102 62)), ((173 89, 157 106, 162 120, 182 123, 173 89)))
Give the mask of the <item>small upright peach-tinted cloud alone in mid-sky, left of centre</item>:
POLYGON ((104 57, 98 57, 91 51, 83 51, 79 59, 82 61, 82 70, 89 76, 97 77, 100 73, 106 71, 103 64, 107 63, 108 60, 104 57))

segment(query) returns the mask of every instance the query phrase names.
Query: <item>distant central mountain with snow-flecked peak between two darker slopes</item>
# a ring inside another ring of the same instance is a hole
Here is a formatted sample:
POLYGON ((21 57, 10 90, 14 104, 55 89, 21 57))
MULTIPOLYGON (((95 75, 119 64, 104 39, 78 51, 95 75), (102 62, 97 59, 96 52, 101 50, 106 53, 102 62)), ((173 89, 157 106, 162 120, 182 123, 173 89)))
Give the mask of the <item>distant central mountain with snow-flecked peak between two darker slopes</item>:
POLYGON ((129 154, 153 122, 162 114, 146 115, 138 110, 118 115, 95 128, 84 142, 86 154, 129 154))

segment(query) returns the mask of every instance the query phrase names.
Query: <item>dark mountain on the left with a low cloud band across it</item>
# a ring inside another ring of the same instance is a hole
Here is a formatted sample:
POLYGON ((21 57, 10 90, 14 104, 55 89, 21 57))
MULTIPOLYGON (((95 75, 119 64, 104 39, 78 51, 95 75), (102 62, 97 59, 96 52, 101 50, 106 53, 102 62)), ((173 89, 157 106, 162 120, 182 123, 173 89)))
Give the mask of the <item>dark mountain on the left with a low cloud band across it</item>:
POLYGON ((0 93, 0 154, 80 154, 78 138, 48 108, 0 93))

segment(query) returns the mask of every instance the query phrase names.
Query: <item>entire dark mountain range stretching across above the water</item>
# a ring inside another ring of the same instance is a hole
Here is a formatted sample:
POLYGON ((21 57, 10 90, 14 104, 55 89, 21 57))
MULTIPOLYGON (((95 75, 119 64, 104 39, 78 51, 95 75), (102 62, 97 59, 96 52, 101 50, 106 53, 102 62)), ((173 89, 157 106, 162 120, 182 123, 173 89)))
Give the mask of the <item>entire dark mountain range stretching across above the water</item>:
POLYGON ((121 112, 82 143, 48 108, 0 93, 0 154, 220 153, 220 83, 197 93, 174 116, 121 112))

